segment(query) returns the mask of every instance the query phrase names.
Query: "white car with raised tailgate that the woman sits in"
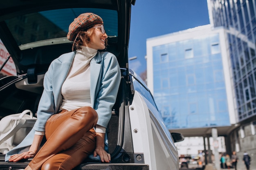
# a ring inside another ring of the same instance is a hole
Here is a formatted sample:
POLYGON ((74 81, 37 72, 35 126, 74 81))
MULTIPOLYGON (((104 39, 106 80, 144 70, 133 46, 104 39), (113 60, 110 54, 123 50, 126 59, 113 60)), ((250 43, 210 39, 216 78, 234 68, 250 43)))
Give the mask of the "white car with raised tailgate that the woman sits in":
MULTIPOLYGON (((108 125, 110 163, 86 159, 75 170, 178 170, 174 142, 181 134, 164 125, 146 84, 128 68, 131 6, 135 0, 8 0, 0 2, 0 39, 16 64, 17 75, 0 79, 0 116, 30 109, 34 116, 43 92, 49 64, 72 50, 66 38, 69 24, 79 14, 93 12, 103 18, 107 51, 121 68, 117 102, 108 125), (7 80, 8 78, 8 80, 7 80)), ((56 75, 57 76, 57 75, 56 75)), ((118 88, 118 87, 117 87, 118 88)), ((25 162, 4 162, 0 170, 25 168, 25 162)))

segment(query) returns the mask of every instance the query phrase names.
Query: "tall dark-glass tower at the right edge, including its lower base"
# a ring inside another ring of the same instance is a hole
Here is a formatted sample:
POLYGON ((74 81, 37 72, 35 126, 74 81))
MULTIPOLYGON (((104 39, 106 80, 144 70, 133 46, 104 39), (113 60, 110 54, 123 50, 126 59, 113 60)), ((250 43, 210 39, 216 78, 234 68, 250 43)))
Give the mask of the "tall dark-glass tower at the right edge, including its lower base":
MULTIPOLYGON (((256 0, 208 0, 210 23, 228 30, 227 44, 237 128, 229 134, 240 159, 256 155, 256 0)), ((243 165, 240 165, 243 167, 243 165)), ((256 162, 252 161, 256 168, 256 162)))

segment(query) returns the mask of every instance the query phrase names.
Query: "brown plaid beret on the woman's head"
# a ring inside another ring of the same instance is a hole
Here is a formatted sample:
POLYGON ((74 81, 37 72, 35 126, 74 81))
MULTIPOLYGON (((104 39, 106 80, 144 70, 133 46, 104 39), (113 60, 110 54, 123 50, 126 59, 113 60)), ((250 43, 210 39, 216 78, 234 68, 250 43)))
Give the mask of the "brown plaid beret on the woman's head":
POLYGON ((96 24, 103 24, 103 20, 99 15, 94 13, 82 13, 70 24, 67 39, 74 41, 79 31, 87 31, 96 24))

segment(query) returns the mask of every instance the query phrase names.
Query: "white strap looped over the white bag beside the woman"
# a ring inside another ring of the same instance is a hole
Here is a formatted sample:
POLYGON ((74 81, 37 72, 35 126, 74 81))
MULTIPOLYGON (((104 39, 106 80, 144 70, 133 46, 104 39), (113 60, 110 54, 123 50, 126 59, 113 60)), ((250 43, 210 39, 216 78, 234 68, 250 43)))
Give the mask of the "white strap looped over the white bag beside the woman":
MULTIPOLYGON (((24 115, 26 115, 27 113, 30 113, 30 117, 32 115, 33 117, 33 113, 30 110, 24 110, 19 118, 22 118, 24 115)), ((10 137, 12 137, 16 132, 18 132, 18 130, 26 123, 26 119, 20 119, 20 122, 17 124, 17 126, 13 126, 11 128, 11 130, 9 130, 9 132, 7 132, 7 135, 5 135, 2 139, 0 139, 0 145, 6 141, 7 139, 9 139, 10 137)))

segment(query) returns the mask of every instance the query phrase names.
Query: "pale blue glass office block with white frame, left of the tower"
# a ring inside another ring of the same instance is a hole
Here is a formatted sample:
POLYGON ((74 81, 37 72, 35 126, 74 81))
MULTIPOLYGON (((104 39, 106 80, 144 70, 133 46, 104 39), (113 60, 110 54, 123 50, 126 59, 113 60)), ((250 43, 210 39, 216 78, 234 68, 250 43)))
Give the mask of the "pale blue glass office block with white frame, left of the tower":
POLYGON ((169 129, 234 123, 224 34, 206 25, 147 40, 148 86, 169 129))

